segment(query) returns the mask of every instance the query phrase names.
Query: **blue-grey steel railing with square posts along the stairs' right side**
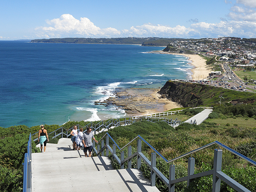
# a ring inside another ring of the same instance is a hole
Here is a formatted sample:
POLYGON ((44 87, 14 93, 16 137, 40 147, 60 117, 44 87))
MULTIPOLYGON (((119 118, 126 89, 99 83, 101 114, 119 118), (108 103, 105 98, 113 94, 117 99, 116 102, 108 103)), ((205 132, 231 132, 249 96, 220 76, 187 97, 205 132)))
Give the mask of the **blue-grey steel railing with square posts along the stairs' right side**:
POLYGON ((93 141, 93 151, 96 153, 96 155, 97 156, 100 156, 100 155, 104 156, 104 150, 106 150, 106 152, 105 152, 106 156, 108 156, 109 152, 111 152, 111 154, 113 156, 113 159, 115 159, 119 163, 119 166, 120 166, 121 169, 124 169, 124 163, 125 162, 128 163, 128 169, 131 169, 131 159, 134 158, 134 157, 137 157, 137 169, 140 169, 141 160, 143 160, 145 162, 145 164, 151 169, 151 186, 155 186, 155 176, 157 175, 163 181, 163 183, 165 183, 166 186, 169 187, 169 192, 174 192, 175 183, 187 181, 187 186, 189 186, 189 183, 191 183, 192 179, 195 179, 197 177, 207 176, 207 175, 212 175, 212 177, 213 177, 213 183, 212 183, 212 191, 213 192, 219 192, 220 183, 221 183, 220 180, 223 180, 225 183, 227 183, 229 186, 231 186, 236 191, 250 192, 250 190, 246 189, 244 186, 239 184, 237 181, 233 180, 231 177, 229 177, 228 175, 221 172, 222 150, 220 149, 220 147, 226 149, 227 151, 230 151, 231 153, 235 154, 236 156, 240 157, 241 159, 243 159, 243 160, 247 161, 248 163, 251 163, 252 165, 256 166, 255 161, 249 159, 248 157, 245 157, 244 155, 238 153, 237 151, 227 147, 226 145, 224 145, 224 144, 222 144, 218 141, 215 141, 215 142, 209 143, 207 145, 204 145, 201 148, 197 148, 193 151, 190 151, 190 152, 188 152, 186 154, 183 154, 179 157, 176 157, 172 160, 166 160, 166 158, 163 157, 163 155, 161 155, 154 147, 152 147, 140 135, 135 137, 133 140, 131 140, 129 143, 127 143, 122 148, 120 148, 116 144, 116 142, 112 139, 112 137, 108 133, 106 133, 99 140, 98 145, 97 145, 97 149, 96 149, 96 146, 95 146, 95 142, 93 141), (104 140, 103 140, 104 138, 106 138, 106 143, 105 144, 104 144, 104 140), (113 148, 111 148, 111 146, 109 145, 109 138, 114 143, 113 148), (130 144, 132 142, 134 142, 136 139, 138 139, 137 140, 137 152, 132 154, 130 144), (148 160, 148 158, 145 157, 145 155, 141 151, 142 141, 154 151, 154 153, 151 153, 151 161, 148 160), (212 145, 218 145, 218 149, 214 150, 214 162, 213 162, 213 169, 212 170, 202 172, 202 173, 198 173, 198 174, 194 174, 195 173, 195 158, 193 158, 191 156, 188 159, 188 176, 175 179, 175 165, 173 165, 173 162, 175 160, 178 160, 180 158, 192 155, 192 154, 194 154, 198 151, 201 151, 205 148, 209 148, 212 145), (120 151, 120 159, 116 155, 116 147, 120 151), (128 157, 127 158, 124 157, 124 151, 122 151, 125 147, 128 147, 128 157), (156 154, 160 158, 162 158, 166 163, 169 163, 169 179, 165 175, 163 175, 163 173, 161 173, 156 168, 156 154))

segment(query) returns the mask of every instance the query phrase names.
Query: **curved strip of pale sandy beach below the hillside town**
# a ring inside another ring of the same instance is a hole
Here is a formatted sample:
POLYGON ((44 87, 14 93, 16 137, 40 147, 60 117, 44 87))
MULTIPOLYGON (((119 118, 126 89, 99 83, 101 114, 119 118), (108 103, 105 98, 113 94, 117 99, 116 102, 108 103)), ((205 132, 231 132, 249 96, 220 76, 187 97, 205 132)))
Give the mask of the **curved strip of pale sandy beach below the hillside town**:
POLYGON ((191 69, 192 71, 192 80, 203 80, 209 76, 211 70, 209 70, 206 59, 202 58, 200 55, 192 55, 192 54, 182 54, 182 53, 172 53, 172 52, 163 52, 163 51, 154 51, 160 54, 171 54, 171 55, 181 55, 187 57, 189 61, 191 61, 192 66, 195 68, 191 69))

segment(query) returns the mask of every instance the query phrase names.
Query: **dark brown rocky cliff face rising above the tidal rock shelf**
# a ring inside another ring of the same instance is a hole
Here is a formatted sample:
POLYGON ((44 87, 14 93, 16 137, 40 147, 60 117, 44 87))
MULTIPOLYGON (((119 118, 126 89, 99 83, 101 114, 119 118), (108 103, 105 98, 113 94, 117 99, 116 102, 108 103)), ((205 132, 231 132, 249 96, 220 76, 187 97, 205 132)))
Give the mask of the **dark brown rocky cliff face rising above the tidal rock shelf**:
POLYGON ((203 105, 200 93, 208 90, 209 86, 201 84, 167 81, 158 93, 162 98, 171 99, 183 107, 197 107, 203 105))

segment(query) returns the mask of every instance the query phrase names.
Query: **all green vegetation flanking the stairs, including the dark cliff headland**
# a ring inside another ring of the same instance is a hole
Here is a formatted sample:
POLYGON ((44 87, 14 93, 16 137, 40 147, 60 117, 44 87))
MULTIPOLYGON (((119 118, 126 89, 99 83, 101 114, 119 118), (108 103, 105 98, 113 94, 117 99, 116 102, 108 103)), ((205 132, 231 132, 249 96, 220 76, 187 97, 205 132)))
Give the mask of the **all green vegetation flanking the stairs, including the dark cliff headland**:
MULTIPOLYGON (((177 98, 177 102, 184 107, 212 106, 213 112, 201 125, 183 123, 177 128, 172 128, 165 122, 136 122, 128 126, 119 126, 108 133, 122 147, 130 142, 138 134, 157 149, 166 159, 173 159, 192 151, 215 140, 235 149, 239 153, 256 161, 256 95, 223 88, 212 87, 188 82, 167 81, 160 90, 161 94, 169 99, 177 98), (219 105, 219 96, 225 99, 219 105)), ((184 108, 177 108, 184 109, 184 108)), ((166 118, 185 121, 189 117, 199 113, 202 109, 185 108, 182 112, 166 118)), ((98 121, 99 122, 99 121, 98 121)), ((98 122, 94 122, 95 124, 98 122)), ((64 129, 69 130, 74 124, 85 126, 88 122, 67 122, 64 129)), ((60 128, 59 125, 45 125, 48 133, 60 128)), ((26 125, 0 127, 0 191, 18 192, 22 190, 22 163, 26 152, 29 133, 36 133, 39 126, 27 127, 26 125)), ((103 133, 102 133, 103 134, 103 133)), ((102 134, 96 135, 99 140, 102 134)), ((37 137, 37 134, 35 135, 37 137)), ((61 136, 59 136, 61 137, 61 136)), ((51 137, 49 137, 51 138, 51 137)), ((58 143, 58 139, 50 139, 50 143, 58 143)), ((36 148, 38 142, 32 142, 32 152, 39 152, 36 148)), ((136 146, 136 142, 131 144, 136 146)), ((133 149, 135 150, 135 149, 133 149)), ((213 148, 193 154, 196 159, 195 172, 203 172, 212 169, 213 148)), ((143 154, 150 158, 151 149, 143 145, 143 154)), ((125 149, 127 154, 127 149, 125 149)), ((119 151, 117 151, 119 155, 119 151)), ((132 166, 136 160, 133 159, 132 166)), ((177 160, 175 163, 175 177, 186 175, 187 158, 177 160)), ((113 167, 118 168, 115 161, 113 167)), ((160 158, 157 158, 157 168, 169 177, 169 166, 160 158)), ((223 172, 247 187, 256 191, 256 168, 224 151, 222 161, 223 172)), ((147 166, 143 163, 141 170, 145 177, 150 177, 147 166)), ((186 183, 175 185, 176 191, 206 192, 211 189, 212 177, 201 177, 192 182, 189 189, 186 183)), ((157 187, 160 191, 166 191, 167 187, 157 178, 157 187)), ((232 191, 225 183, 221 183, 221 191, 232 191)))

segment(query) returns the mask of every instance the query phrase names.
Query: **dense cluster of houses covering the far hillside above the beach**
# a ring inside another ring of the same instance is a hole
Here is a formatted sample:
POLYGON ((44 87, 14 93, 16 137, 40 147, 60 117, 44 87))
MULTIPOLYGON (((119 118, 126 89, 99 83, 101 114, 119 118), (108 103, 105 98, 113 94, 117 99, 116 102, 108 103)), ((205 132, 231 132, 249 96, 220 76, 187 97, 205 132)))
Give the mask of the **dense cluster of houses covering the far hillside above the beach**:
POLYGON ((216 56, 219 61, 228 61, 241 67, 256 64, 256 39, 204 38, 195 41, 175 41, 167 47, 169 46, 173 48, 173 52, 216 56))

